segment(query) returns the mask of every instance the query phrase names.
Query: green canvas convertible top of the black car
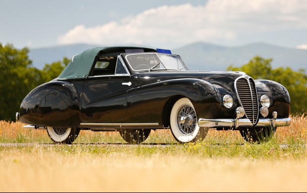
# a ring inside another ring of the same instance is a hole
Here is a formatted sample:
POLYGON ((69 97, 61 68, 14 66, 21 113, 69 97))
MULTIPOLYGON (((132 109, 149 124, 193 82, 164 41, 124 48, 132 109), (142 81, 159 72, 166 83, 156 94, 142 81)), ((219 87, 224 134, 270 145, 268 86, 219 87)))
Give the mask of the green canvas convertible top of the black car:
POLYGON ((121 53, 157 52, 153 48, 142 47, 98 47, 90 48, 72 57, 58 80, 80 79, 89 77, 96 56, 117 56, 121 53))

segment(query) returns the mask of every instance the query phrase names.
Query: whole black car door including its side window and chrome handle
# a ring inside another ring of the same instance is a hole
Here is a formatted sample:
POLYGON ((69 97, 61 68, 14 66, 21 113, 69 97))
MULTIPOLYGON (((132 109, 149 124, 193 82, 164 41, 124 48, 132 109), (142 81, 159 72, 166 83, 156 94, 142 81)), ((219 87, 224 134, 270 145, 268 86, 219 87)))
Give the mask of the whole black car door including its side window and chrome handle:
POLYGON ((102 57, 84 82, 81 120, 113 123, 127 113, 130 74, 120 57, 102 57))

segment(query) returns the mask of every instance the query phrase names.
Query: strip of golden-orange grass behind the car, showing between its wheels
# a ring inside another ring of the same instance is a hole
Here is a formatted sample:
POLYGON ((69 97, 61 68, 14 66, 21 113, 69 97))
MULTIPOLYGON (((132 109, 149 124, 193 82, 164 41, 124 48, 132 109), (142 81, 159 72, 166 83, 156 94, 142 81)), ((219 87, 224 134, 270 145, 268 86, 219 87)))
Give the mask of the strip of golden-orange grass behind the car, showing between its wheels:
MULTIPOLYGON (((274 139, 278 143, 301 142, 307 144, 307 116, 291 116, 290 126, 278 127, 274 139)), ((24 128, 25 124, 20 122, 0 121, 0 143, 14 141, 24 138, 23 141, 51 143, 45 130, 35 130, 24 128), (40 139, 36 141, 36 139, 40 139)), ((205 140, 223 139, 229 143, 244 142, 239 131, 216 131, 209 130, 205 140)), ((118 132, 92 132, 81 131, 76 143, 124 143, 118 132)), ((152 131, 145 143, 176 143, 170 130, 152 131)))

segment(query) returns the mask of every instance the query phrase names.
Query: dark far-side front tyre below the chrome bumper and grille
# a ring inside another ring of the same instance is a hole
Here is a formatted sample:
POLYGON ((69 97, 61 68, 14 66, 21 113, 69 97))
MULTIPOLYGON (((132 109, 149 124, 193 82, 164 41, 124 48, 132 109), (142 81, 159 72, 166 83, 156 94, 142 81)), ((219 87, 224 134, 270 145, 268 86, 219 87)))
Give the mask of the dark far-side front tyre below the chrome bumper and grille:
POLYGON ((276 127, 256 127, 256 128, 242 128, 240 134, 243 139, 251 143, 268 142, 275 135, 276 127))

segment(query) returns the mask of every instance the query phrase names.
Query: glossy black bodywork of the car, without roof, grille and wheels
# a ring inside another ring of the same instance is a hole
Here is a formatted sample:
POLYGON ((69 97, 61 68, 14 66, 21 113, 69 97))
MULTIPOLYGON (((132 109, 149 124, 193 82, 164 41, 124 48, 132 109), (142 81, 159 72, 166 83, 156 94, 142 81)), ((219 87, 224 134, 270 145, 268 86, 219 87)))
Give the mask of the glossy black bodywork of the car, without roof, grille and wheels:
MULTIPOLYGON (((126 66, 131 74, 129 76, 111 75, 69 81, 55 79, 37 87, 22 101, 20 121, 37 126, 82 129, 89 129, 90 126, 81 123, 158 123, 157 126, 139 127, 163 128, 169 126, 171 108, 180 97, 190 98, 198 118, 235 117, 239 101, 234 82, 242 76, 239 72, 135 73, 129 65, 126 66), (122 84, 129 82, 130 86, 122 84), (222 104, 226 94, 235 99, 230 109, 222 104)), ((278 117, 289 117, 290 97, 287 90, 274 81, 255 82, 258 100, 264 94, 272 100, 268 117, 272 117, 273 111, 277 111, 278 117)), ((120 127, 103 124, 91 126, 92 129, 120 127)))

